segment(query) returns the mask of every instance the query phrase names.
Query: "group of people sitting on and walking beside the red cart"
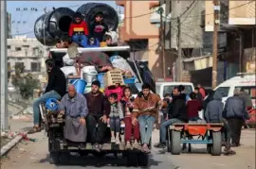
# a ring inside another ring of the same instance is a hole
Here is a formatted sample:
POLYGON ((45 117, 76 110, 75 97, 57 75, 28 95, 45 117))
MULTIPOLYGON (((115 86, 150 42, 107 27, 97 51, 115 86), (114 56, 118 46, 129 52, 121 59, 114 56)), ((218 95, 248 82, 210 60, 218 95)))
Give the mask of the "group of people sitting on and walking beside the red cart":
POLYGON ((155 147, 163 148, 160 151, 165 152, 167 128, 175 123, 202 120, 198 113, 200 110, 204 110, 204 118, 207 123, 224 124, 222 141, 225 146, 225 154, 235 154, 230 147, 240 145, 242 126, 249 119, 247 108, 252 107, 250 97, 245 92, 236 89, 224 106, 222 93, 218 91, 211 91, 205 100, 205 91, 200 86, 195 88, 190 97, 182 91, 184 91, 184 87, 178 86, 174 88, 171 96, 165 95, 164 101, 168 100, 169 106, 163 110, 167 114, 164 113, 164 118, 162 118, 159 132, 160 140, 158 144, 155 144, 155 147))

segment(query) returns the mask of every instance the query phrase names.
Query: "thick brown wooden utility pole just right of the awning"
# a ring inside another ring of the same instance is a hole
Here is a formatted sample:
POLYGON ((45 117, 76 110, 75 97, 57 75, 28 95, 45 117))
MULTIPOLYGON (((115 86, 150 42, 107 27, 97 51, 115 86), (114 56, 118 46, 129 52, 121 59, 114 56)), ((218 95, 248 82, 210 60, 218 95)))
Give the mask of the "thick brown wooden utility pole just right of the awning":
POLYGON ((212 89, 217 86, 217 57, 218 57, 218 29, 219 29, 219 0, 213 0, 213 9, 214 9, 214 17, 213 17, 213 44, 212 44, 212 89))

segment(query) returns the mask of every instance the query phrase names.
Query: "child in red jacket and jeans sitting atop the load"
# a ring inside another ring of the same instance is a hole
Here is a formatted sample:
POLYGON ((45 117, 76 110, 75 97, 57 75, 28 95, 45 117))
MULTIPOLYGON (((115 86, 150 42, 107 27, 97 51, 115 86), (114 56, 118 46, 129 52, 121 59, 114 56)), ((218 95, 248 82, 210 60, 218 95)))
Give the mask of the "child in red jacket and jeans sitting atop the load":
POLYGON ((88 25, 82 20, 82 13, 76 12, 74 15, 74 21, 69 26, 68 35, 72 37, 72 41, 81 45, 82 47, 87 46, 88 25))

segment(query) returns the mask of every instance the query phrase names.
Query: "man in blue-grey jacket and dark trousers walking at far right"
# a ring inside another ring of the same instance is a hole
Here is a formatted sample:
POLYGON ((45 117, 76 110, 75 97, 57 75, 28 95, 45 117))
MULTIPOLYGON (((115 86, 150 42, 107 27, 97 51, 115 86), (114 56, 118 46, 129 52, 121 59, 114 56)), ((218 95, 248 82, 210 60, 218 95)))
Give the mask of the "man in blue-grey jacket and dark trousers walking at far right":
POLYGON ((228 120, 231 129, 231 146, 240 146, 241 130, 244 121, 249 119, 246 103, 239 97, 239 90, 229 97, 223 110, 223 117, 228 120))

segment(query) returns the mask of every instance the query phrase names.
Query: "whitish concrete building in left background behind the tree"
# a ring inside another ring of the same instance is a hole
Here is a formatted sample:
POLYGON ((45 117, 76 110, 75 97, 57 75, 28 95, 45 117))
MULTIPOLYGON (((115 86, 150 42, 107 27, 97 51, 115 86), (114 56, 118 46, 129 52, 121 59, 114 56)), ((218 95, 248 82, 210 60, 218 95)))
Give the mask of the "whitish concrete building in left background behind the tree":
POLYGON ((8 39, 8 67, 10 71, 14 71, 17 62, 22 62, 27 72, 46 71, 45 59, 47 55, 47 47, 35 38, 22 36, 8 39))

